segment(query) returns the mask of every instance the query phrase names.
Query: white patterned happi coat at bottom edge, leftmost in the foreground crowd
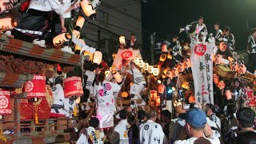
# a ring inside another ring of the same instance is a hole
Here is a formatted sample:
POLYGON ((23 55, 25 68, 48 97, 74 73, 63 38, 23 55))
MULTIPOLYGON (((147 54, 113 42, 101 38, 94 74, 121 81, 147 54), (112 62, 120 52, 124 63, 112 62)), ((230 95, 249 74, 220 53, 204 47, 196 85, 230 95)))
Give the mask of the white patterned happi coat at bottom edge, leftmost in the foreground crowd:
POLYGON ((89 126, 86 128, 86 135, 81 134, 78 138, 77 144, 87 144, 88 140, 93 142, 94 144, 103 144, 102 138, 104 138, 105 134, 100 132, 99 130, 95 130, 94 127, 89 126), (88 137, 88 138, 87 138, 88 137))

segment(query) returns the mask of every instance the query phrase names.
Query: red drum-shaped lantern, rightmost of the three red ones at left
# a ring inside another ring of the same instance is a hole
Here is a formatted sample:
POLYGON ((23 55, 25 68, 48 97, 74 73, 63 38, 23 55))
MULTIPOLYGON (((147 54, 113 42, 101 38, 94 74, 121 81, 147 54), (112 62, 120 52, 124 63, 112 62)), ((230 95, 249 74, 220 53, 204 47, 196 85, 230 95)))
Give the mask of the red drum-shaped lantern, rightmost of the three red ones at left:
POLYGON ((82 79, 80 77, 64 79, 64 94, 65 98, 71 98, 73 96, 81 97, 83 95, 82 79))

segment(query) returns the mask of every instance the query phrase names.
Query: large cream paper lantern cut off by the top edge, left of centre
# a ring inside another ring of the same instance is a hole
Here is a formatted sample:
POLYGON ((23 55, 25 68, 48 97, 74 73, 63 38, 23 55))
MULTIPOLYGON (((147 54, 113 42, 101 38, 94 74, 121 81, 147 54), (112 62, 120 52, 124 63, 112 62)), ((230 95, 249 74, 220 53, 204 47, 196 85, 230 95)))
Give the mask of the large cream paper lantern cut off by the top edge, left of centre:
POLYGON ((82 7, 82 11, 84 14, 86 14, 86 17, 89 17, 91 19, 96 18, 96 10, 94 10, 94 7, 92 6, 90 0, 82 0, 80 3, 82 7))

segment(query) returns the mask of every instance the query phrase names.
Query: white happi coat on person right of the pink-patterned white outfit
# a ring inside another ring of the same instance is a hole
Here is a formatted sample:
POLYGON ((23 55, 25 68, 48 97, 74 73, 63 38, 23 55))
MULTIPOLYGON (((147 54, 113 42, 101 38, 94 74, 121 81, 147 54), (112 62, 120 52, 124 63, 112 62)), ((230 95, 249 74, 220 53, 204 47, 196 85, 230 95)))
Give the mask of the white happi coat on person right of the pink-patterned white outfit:
POLYGON ((140 97, 140 93, 146 85, 144 76, 137 68, 134 68, 133 70, 127 70, 127 72, 132 74, 134 78, 134 84, 130 86, 130 94, 134 94, 140 97))

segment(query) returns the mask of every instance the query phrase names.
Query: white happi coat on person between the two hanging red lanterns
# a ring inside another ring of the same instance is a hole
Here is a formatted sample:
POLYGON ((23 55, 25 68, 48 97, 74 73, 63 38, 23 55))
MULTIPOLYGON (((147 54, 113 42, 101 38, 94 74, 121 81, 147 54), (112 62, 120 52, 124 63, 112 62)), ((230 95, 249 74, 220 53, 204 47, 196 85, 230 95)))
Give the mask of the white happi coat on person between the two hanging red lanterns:
POLYGON ((60 84, 52 87, 52 93, 54 96, 54 105, 63 106, 61 109, 51 109, 51 113, 64 114, 66 117, 70 117, 70 113, 74 110, 75 102, 72 98, 64 97, 64 90, 60 84))

